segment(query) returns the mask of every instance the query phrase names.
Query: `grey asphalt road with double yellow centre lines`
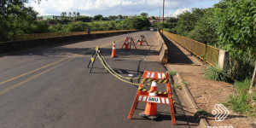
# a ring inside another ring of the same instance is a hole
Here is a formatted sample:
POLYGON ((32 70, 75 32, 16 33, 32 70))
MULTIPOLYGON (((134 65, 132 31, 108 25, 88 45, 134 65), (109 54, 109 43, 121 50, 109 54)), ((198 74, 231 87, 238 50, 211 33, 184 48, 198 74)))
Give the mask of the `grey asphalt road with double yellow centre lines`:
MULTIPOLYGON (((168 106, 158 105, 160 119, 141 118, 145 103, 139 103, 133 119, 127 119, 137 87, 108 73, 96 59, 92 73, 87 64, 96 46, 108 64, 121 75, 141 76, 143 71, 166 72, 159 62, 148 60, 156 32, 133 32, 75 44, 30 49, 0 57, 1 128, 90 128, 90 127, 188 127, 178 105, 177 125, 172 125, 168 106), (120 50, 127 36, 144 34, 150 46, 120 50), (116 41, 117 58, 111 58, 116 41)), ((138 83, 138 80, 132 81, 138 83)), ((162 86, 162 87, 161 87, 162 86)), ((159 90, 165 90, 165 84, 159 90)))

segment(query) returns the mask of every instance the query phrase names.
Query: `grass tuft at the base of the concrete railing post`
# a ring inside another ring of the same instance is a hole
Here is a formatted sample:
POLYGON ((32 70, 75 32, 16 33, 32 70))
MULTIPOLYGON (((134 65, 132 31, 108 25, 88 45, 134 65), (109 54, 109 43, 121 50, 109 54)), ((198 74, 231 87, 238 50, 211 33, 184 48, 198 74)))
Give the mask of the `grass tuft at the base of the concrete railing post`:
POLYGON ((207 68, 205 68, 204 77, 206 79, 212 79, 217 81, 227 81, 224 71, 221 67, 218 66, 218 64, 215 64, 215 67, 207 66, 207 68))

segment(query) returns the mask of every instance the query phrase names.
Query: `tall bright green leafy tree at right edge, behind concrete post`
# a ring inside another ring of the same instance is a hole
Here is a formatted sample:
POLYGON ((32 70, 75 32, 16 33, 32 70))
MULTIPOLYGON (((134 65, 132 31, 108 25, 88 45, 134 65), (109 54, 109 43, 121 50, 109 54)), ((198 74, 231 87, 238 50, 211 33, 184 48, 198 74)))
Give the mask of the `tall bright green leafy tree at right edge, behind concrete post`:
POLYGON ((216 7, 213 21, 218 47, 229 51, 229 77, 250 78, 256 63, 256 1, 223 0, 216 7))

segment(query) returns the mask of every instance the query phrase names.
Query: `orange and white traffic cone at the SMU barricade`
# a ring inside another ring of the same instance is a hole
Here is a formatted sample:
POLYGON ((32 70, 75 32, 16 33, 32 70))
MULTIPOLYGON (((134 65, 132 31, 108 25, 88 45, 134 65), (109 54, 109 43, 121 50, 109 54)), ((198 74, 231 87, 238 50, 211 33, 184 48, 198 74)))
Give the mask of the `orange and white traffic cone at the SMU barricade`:
MULTIPOLYGON (((152 82, 150 90, 157 91, 155 82, 152 82)), ((148 96, 156 96, 156 93, 149 93, 148 96)), ((148 119, 157 119, 160 116, 160 114, 157 113, 157 104, 153 102, 147 102, 145 111, 140 113, 140 115, 148 119)))

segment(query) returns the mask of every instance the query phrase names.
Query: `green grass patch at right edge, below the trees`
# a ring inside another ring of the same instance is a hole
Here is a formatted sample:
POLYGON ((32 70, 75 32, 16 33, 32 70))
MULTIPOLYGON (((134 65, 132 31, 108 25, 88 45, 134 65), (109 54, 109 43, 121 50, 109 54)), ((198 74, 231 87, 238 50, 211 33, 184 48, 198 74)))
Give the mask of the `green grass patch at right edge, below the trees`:
POLYGON ((236 113, 256 116, 256 107, 253 106, 253 102, 256 102, 256 91, 248 95, 250 84, 250 79, 236 81, 234 86, 237 93, 229 97, 228 106, 236 113))

